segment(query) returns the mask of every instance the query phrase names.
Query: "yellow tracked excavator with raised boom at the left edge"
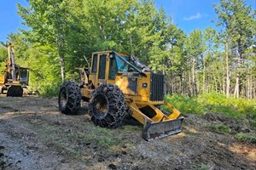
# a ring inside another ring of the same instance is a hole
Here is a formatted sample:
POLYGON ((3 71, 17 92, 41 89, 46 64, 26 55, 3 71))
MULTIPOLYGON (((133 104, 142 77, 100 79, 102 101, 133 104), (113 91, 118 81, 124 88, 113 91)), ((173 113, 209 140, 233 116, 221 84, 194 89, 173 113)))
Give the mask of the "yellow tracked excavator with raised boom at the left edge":
POLYGON ((11 43, 7 44, 8 59, 5 61, 5 70, 0 73, 0 94, 11 97, 22 97, 23 88, 28 86, 28 68, 15 64, 15 54, 11 43))

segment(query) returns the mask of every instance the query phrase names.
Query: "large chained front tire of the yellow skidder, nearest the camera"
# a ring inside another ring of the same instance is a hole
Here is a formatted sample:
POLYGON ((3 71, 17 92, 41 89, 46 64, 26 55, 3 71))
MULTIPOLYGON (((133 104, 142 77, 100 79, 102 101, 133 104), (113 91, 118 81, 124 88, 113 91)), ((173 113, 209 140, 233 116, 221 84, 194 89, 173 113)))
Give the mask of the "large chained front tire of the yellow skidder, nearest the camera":
POLYGON ((127 106, 118 86, 103 83, 91 94, 88 111, 97 126, 116 128, 122 125, 127 106))

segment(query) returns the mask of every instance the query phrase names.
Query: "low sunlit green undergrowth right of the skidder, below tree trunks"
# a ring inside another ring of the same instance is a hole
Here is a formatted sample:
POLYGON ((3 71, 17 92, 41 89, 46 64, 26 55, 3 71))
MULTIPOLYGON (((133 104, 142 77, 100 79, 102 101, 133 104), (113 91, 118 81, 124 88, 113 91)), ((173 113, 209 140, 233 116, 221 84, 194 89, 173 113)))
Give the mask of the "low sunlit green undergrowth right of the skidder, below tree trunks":
POLYGON ((255 99, 226 98, 223 94, 200 94, 197 98, 166 95, 166 101, 183 113, 205 114, 223 113, 226 116, 244 119, 250 116, 256 120, 255 99))

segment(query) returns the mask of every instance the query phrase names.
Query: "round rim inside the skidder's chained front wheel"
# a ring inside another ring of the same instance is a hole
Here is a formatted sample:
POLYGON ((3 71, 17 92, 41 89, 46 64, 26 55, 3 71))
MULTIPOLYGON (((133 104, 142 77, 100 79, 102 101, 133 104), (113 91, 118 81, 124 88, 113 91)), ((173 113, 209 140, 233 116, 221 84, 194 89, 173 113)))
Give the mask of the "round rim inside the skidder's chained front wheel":
POLYGON ((108 112, 108 99, 103 94, 96 95, 93 102, 93 113, 97 119, 102 119, 108 112))

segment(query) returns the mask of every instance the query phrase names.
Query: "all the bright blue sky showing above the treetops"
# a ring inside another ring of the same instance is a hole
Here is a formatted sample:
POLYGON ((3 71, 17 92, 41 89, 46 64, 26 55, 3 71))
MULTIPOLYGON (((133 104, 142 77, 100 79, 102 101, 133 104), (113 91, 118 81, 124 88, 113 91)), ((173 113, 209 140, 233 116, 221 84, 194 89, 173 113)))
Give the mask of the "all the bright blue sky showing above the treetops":
MULTIPOLYGON (((212 3, 219 0, 154 0, 156 8, 161 6, 166 14, 172 17, 177 27, 187 34, 194 29, 205 29, 207 26, 215 26, 212 20, 217 19, 212 3)), ((0 0, 0 41, 6 42, 8 34, 18 32, 19 29, 27 29, 21 24, 22 19, 17 14, 17 5, 27 6, 26 0, 0 0)), ((256 7, 256 0, 247 0, 252 8, 256 7)))

